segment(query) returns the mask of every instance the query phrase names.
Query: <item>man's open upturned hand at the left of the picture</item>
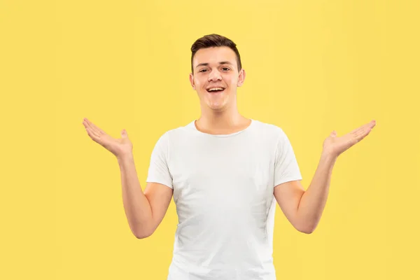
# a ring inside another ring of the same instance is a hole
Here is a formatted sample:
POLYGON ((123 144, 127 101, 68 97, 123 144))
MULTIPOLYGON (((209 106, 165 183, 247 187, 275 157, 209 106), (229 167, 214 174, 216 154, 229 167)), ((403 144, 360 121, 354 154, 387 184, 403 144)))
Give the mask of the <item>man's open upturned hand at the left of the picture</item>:
POLYGON ((93 141, 106 148, 117 158, 132 154, 133 144, 128 138, 126 130, 121 131, 121 138, 115 139, 94 125, 90 120, 87 120, 87 118, 83 119, 83 125, 93 141))

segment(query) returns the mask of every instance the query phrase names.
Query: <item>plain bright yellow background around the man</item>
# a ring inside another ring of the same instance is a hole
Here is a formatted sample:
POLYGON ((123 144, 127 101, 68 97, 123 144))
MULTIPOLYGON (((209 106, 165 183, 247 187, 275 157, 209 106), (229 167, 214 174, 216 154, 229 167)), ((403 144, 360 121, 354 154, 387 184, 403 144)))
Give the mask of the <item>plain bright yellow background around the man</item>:
POLYGON ((166 279, 177 217, 136 239, 89 118, 134 143, 142 188, 167 130, 200 116, 190 46, 231 38, 240 113, 288 134, 307 188, 325 137, 377 120, 337 160, 311 235, 277 206, 281 279, 419 279, 419 1, 0 1, 0 279, 166 279))

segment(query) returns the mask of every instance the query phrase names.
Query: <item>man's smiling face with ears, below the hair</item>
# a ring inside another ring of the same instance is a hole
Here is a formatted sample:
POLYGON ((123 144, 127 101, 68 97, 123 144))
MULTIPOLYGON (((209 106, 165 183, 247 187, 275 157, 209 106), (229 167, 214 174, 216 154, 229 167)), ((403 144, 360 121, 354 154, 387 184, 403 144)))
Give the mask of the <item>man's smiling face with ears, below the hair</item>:
POLYGON ((190 83, 200 103, 215 111, 224 111, 236 104, 237 87, 244 83, 245 71, 238 71, 235 52, 228 47, 202 48, 193 58, 194 72, 190 83), (218 88, 218 90, 211 90, 218 88), (222 89, 222 90, 220 90, 222 89))

